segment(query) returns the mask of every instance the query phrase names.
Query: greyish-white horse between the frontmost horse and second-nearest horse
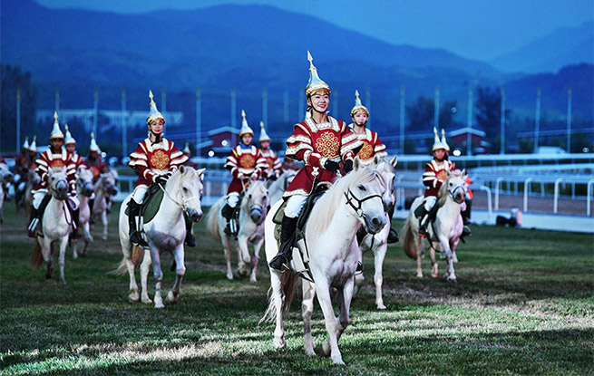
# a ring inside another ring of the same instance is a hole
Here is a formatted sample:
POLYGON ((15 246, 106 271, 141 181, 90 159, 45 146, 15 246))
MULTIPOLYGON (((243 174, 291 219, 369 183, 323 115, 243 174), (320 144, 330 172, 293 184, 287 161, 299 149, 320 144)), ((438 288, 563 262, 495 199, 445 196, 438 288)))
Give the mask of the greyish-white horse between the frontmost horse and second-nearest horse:
POLYGON ((250 282, 257 282, 256 270, 260 258, 260 248, 264 243, 264 218, 268 210, 268 190, 263 181, 252 182, 239 203, 239 232, 235 236, 225 234, 227 219, 221 214, 221 208, 225 205, 226 197, 219 198, 215 205, 210 207, 207 227, 210 235, 221 242, 225 249, 227 260, 227 278, 233 279, 231 271, 231 250, 236 247, 239 252, 238 275, 246 276, 248 273, 250 282), (254 246, 254 255, 250 257, 248 244, 254 246), (251 262, 251 270, 248 264, 251 262))

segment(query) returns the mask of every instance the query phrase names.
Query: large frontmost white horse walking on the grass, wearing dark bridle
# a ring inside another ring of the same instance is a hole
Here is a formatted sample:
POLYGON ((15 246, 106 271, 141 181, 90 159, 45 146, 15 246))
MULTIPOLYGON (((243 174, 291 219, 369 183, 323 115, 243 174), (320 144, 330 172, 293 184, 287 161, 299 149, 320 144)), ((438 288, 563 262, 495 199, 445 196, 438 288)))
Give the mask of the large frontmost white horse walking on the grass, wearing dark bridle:
MULTIPOLYGON (((304 228, 305 247, 309 255, 309 267, 315 284, 302 281, 303 302, 302 314, 304 320, 305 337, 304 348, 308 355, 314 355, 314 341, 311 333, 311 315, 314 308, 314 297, 324 313, 328 341, 324 342, 319 351, 330 355, 332 362, 344 364, 338 340, 349 323, 349 309, 355 286, 355 269, 360 258, 359 247, 355 234, 357 229, 364 226, 366 231, 377 234, 387 223, 382 197, 385 186, 373 169, 361 168, 358 158, 355 158, 354 170, 345 178, 339 178, 326 194, 318 199, 312 209, 304 228), (339 320, 336 320, 330 288, 338 291, 340 307, 339 320)), ((270 209, 266 218, 266 255, 268 262, 277 255, 278 244, 274 236, 275 224, 273 217, 282 201, 278 201, 270 209)), ((291 267, 295 267, 293 264, 291 267)), ((270 293, 267 312, 262 320, 276 318, 273 345, 284 348, 285 329, 283 327, 283 312, 287 313, 291 304, 293 287, 297 275, 287 271, 284 274, 270 269, 270 293)))

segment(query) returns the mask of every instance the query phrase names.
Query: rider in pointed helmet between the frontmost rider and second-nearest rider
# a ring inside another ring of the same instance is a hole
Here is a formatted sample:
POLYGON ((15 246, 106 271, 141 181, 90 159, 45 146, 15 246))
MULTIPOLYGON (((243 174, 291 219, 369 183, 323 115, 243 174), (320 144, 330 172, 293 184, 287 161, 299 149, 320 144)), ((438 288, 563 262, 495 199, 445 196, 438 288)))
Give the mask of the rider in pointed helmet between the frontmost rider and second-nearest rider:
POLYGON ((243 121, 241 121, 241 130, 239 130, 239 145, 231 150, 227 163, 225 163, 225 168, 229 169, 233 176, 227 189, 227 203, 221 209, 222 216, 227 219, 224 230, 227 235, 237 233, 237 226, 231 221, 231 217, 235 207, 238 206, 239 194, 243 192, 245 184, 249 180, 258 180, 262 176, 262 171, 268 166, 260 149, 251 145, 254 131, 249 128, 246 111, 241 111, 241 116, 243 121))

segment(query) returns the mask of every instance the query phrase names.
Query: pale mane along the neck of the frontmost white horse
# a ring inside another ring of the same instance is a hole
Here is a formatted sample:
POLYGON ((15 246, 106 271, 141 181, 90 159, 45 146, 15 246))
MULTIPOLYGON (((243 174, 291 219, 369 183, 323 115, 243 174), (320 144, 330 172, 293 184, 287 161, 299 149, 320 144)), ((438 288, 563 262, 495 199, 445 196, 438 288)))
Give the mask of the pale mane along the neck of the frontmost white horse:
POLYGON ((308 219, 308 226, 316 228, 316 232, 321 234, 332 222, 336 208, 340 205, 343 193, 355 183, 367 183, 375 178, 376 172, 373 169, 361 168, 347 174, 344 178, 338 178, 336 183, 328 189, 313 208, 311 216, 308 219))

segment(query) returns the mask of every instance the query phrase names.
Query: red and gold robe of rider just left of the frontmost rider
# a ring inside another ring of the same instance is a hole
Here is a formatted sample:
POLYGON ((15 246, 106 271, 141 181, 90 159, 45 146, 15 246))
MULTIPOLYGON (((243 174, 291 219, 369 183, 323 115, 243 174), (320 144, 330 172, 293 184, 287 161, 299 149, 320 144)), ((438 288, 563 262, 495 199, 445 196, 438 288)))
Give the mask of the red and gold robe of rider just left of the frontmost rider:
POLYGON ((266 159, 262 156, 260 149, 255 146, 250 146, 244 149, 241 145, 236 146, 231 150, 231 154, 227 157, 225 168, 231 171, 233 179, 227 189, 227 194, 231 192, 241 192, 243 190, 243 182, 248 181, 251 174, 256 173, 258 178, 262 176, 262 171, 268 166, 266 159), (243 174, 243 180, 238 178, 239 174, 243 174))

